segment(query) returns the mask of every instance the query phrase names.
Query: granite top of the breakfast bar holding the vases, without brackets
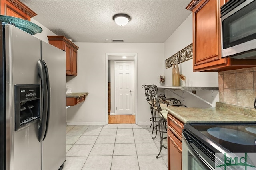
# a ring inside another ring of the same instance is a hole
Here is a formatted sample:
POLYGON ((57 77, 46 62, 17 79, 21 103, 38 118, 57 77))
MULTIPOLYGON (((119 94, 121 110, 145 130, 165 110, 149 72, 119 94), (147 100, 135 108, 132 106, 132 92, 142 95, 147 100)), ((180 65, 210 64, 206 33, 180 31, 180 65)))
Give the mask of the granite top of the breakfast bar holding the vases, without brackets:
POLYGON ((172 89, 172 90, 188 90, 188 91, 219 90, 218 87, 190 87, 190 86, 157 86, 157 88, 172 89))

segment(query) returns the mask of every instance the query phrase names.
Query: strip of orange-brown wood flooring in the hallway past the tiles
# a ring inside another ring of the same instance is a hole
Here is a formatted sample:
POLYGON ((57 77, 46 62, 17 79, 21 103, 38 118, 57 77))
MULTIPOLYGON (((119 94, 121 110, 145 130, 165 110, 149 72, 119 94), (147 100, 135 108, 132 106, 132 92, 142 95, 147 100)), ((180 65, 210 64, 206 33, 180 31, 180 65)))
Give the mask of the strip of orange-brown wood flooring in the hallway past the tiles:
POLYGON ((111 115, 108 114, 109 124, 135 123, 135 115, 111 115))

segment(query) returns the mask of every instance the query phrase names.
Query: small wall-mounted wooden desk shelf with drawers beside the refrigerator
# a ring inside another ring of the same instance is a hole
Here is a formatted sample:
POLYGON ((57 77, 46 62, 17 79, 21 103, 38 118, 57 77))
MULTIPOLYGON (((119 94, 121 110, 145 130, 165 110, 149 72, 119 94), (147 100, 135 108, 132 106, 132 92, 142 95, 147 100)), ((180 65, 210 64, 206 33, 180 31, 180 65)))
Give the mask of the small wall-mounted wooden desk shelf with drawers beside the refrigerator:
POLYGON ((77 104, 80 104, 81 102, 84 102, 86 96, 89 93, 70 93, 66 94, 67 99, 67 106, 75 106, 77 104))

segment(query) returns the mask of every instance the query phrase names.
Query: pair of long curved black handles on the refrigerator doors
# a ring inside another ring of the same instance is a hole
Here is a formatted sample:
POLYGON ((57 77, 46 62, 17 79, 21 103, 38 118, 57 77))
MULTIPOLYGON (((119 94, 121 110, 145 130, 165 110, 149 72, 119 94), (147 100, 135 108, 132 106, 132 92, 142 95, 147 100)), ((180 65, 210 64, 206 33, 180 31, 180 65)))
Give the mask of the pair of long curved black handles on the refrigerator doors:
POLYGON ((50 116, 50 81, 48 68, 42 60, 38 60, 38 74, 42 82, 42 118, 39 127, 39 142, 41 142, 46 136, 50 116))

